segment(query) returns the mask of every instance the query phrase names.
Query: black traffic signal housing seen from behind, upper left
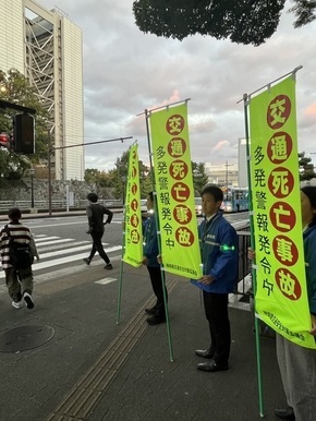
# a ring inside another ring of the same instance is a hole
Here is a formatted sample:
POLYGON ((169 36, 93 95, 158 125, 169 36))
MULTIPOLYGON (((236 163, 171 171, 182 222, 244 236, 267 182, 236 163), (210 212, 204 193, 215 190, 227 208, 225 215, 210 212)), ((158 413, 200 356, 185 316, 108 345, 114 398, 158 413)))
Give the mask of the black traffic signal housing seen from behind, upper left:
POLYGON ((14 117, 13 141, 16 154, 34 154, 34 118, 26 112, 14 117))

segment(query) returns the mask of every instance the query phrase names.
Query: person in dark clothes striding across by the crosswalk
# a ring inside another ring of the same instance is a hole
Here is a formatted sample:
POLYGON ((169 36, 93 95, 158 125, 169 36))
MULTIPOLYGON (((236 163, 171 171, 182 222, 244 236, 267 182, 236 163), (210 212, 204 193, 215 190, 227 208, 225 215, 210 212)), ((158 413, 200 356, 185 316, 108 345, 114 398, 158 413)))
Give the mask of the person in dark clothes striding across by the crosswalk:
POLYGON ((93 248, 89 256, 87 258, 84 258, 84 262, 86 265, 89 265, 92 263, 92 260, 94 258, 94 255, 96 254, 96 252, 98 252, 99 256, 106 262, 105 269, 109 270, 112 269, 113 266, 111 265, 109 256, 104 250, 102 237, 105 233, 105 225, 111 222, 113 213, 104 205, 97 203, 98 195, 96 193, 89 193, 87 195, 87 200, 89 201, 89 205, 86 209, 89 225, 87 233, 92 236, 93 248), (108 218, 105 222, 104 215, 108 215, 108 218))

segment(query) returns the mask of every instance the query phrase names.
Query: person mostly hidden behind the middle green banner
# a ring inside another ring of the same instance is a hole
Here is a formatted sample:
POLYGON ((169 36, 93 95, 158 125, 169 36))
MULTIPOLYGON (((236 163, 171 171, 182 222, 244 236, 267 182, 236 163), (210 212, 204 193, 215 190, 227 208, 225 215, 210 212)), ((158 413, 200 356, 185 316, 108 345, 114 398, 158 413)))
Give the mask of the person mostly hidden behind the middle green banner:
MULTIPOLYGON (((160 264, 157 256, 159 254, 158 237, 156 228, 156 219, 154 214, 154 193, 150 192, 147 196, 148 218, 144 221, 144 257, 143 264, 147 266, 151 287, 157 298, 156 304, 150 309, 145 309, 148 314, 146 318, 149 325, 158 325, 166 322, 165 301, 163 301, 163 284, 161 277, 160 264)), ((165 288, 166 297, 167 289, 165 288)))

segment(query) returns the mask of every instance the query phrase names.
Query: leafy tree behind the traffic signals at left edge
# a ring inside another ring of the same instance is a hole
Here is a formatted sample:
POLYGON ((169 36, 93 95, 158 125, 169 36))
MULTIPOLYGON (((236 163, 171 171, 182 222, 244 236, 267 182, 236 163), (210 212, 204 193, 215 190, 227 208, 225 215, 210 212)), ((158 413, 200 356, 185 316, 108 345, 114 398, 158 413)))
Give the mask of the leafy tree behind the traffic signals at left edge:
MULTIPOLYGON (((32 163, 37 164, 47 159, 48 134, 46 123, 48 111, 38 99, 35 87, 31 86, 26 77, 15 69, 9 70, 8 73, 0 70, 0 99, 36 109, 35 154, 26 157, 17 155, 13 151, 0 148, 1 177, 20 179, 32 163)), ((12 122, 15 115, 15 110, 0 109, 0 132, 9 134, 13 132, 12 122)))

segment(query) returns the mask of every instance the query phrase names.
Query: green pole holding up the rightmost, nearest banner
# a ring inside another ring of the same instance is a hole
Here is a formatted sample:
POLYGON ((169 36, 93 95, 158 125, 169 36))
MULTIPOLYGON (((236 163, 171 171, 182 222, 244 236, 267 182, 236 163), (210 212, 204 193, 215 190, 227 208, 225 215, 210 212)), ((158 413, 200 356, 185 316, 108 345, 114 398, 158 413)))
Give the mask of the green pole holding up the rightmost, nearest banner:
MULTIPOLYGON (((244 117, 245 117, 245 135, 246 135, 246 154, 247 154, 247 178, 248 178, 248 209, 251 220, 251 245, 254 250, 254 215, 253 215, 253 196, 252 196, 252 179, 251 179, 251 148, 250 148, 250 131, 248 131, 248 96, 244 94, 244 117)), ((255 294, 257 289, 256 272, 252 270, 252 282, 254 292, 254 315, 256 314, 255 294)), ((259 336, 259 320, 255 315, 255 337, 256 337, 256 357, 257 357, 257 377, 258 377, 258 397, 259 397, 259 414, 263 418, 264 414, 264 393, 263 393, 263 372, 262 372, 262 351, 260 351, 260 336, 259 336)))

